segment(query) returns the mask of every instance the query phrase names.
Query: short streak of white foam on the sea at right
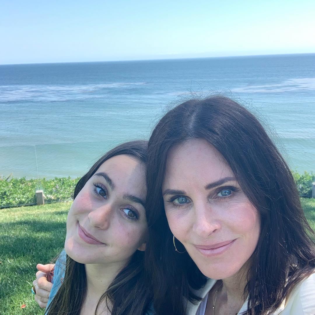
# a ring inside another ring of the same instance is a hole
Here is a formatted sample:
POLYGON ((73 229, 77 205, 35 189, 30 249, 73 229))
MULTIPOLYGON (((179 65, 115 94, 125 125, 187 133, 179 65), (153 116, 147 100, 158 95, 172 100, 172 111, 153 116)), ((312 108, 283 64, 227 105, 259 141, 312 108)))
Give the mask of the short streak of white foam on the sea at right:
POLYGON ((235 89, 237 93, 283 93, 292 91, 311 91, 315 90, 315 77, 313 78, 293 78, 281 83, 248 85, 235 89))

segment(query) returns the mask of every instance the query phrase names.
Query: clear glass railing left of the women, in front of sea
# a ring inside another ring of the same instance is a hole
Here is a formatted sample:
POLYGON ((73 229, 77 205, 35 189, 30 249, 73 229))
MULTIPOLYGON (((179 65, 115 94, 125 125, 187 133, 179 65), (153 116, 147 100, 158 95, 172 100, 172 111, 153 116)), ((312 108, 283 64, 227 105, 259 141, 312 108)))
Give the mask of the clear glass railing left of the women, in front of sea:
POLYGON ((78 179, 125 140, 1 147, 0 207, 41 203, 38 191, 44 203, 72 200, 78 179))

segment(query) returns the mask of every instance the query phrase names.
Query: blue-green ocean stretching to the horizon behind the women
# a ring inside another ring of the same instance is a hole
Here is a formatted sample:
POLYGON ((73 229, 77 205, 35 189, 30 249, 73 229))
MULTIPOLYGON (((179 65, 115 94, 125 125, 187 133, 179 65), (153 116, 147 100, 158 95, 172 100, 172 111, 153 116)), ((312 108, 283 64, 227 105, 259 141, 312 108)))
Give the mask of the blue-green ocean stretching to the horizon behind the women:
POLYGON ((218 93, 258 115, 291 169, 315 171, 315 54, 292 54, 0 65, 0 176, 82 176, 172 106, 218 93))

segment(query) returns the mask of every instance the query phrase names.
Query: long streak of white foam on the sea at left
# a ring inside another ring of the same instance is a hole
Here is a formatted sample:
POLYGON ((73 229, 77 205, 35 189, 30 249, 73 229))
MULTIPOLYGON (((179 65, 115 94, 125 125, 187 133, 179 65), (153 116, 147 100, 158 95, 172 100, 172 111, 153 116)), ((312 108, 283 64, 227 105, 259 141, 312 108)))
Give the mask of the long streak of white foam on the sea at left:
POLYGON ((104 96, 106 89, 128 89, 144 84, 146 83, 117 82, 86 85, 2 85, 0 86, 0 102, 23 100, 61 101, 100 98, 104 96))

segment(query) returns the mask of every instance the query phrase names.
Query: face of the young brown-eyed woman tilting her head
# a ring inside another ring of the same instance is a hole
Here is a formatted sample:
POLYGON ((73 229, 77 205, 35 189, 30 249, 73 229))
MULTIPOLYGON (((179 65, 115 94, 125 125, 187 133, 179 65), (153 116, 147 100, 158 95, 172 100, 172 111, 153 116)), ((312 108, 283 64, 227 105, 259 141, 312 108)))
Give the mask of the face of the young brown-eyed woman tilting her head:
POLYGON ((69 210, 66 253, 84 264, 127 263, 145 249, 145 198, 143 164, 128 155, 105 161, 69 210))

